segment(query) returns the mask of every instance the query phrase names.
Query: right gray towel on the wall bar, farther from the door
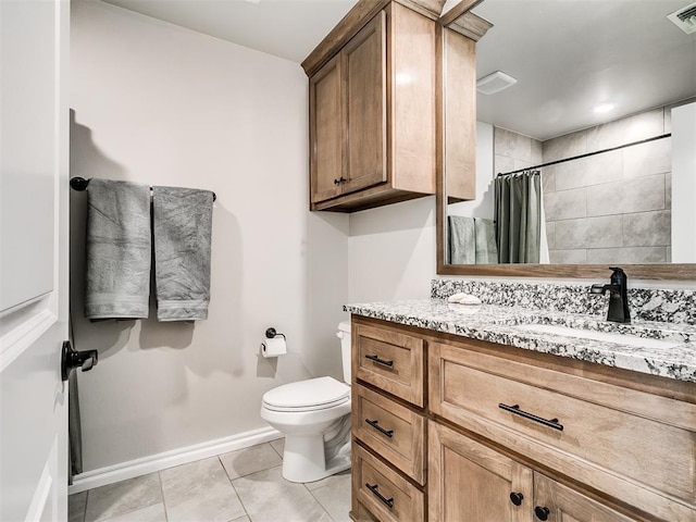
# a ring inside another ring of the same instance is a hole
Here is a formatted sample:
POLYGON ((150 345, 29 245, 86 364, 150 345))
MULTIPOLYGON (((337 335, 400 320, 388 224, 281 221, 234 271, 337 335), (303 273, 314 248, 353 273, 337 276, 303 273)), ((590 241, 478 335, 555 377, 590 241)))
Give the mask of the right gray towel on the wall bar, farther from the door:
POLYGON ((213 192, 152 187, 159 321, 208 319, 213 192))

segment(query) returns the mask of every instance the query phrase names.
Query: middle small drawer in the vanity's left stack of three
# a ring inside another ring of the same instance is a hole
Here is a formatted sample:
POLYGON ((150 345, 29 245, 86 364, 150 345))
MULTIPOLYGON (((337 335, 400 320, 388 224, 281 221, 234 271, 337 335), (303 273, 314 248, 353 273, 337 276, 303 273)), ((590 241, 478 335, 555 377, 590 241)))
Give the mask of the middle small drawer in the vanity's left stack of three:
POLYGON ((394 400, 356 385, 355 437, 419 484, 425 484, 425 419, 394 400))

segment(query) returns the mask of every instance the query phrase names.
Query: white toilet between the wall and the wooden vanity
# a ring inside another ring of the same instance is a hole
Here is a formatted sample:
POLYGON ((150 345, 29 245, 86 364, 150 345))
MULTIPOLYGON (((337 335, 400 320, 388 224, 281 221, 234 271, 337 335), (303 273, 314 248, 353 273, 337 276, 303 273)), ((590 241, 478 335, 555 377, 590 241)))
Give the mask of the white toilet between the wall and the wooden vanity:
POLYGON ((266 391, 261 419, 285 434, 283 476, 314 482, 350 468, 350 323, 338 325, 344 381, 318 377, 266 391))

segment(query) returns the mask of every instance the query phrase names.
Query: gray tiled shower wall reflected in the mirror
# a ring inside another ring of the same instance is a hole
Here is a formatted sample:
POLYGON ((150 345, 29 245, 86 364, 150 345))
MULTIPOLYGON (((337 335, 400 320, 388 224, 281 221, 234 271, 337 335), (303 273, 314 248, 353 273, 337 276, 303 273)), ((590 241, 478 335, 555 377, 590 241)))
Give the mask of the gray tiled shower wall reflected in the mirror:
MULTIPOLYGON (((670 132, 670 109, 544 142, 496 128, 495 170, 661 136, 670 132)), ((542 182, 551 263, 670 262, 671 138, 544 167, 542 182)))

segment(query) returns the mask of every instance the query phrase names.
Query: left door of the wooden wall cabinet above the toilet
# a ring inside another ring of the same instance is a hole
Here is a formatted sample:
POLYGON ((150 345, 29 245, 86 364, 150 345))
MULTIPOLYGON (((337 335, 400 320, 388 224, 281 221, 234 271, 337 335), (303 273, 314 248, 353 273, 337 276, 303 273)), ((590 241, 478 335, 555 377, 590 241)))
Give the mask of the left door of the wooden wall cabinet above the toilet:
POLYGON ((340 194, 344 172, 344 100, 340 55, 309 80, 310 197, 324 201, 340 194))

